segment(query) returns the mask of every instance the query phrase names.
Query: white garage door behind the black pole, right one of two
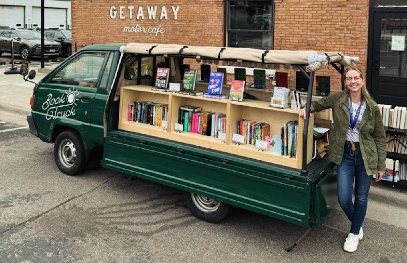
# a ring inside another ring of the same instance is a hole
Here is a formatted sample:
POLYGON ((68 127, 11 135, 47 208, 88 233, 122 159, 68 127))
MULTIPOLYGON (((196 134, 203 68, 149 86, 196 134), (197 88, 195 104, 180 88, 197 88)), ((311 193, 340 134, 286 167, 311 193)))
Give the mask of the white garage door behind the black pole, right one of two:
MULTIPOLYGON (((34 24, 41 26, 41 8, 39 7, 33 7, 33 25, 34 24)), ((44 24, 46 28, 66 28, 66 9, 44 8, 44 24)))

